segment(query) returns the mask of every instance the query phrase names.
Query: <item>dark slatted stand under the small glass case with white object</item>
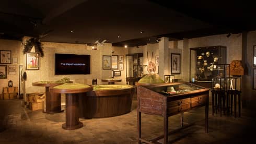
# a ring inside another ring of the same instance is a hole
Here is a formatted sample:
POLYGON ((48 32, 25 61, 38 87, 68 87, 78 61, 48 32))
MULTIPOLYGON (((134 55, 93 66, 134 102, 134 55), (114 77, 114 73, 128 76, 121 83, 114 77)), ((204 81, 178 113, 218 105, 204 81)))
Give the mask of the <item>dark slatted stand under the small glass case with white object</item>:
POLYGON ((222 110, 224 111, 224 115, 226 114, 226 107, 225 107, 226 97, 225 97, 225 90, 212 90, 212 112, 219 110, 220 116, 222 116, 222 110))

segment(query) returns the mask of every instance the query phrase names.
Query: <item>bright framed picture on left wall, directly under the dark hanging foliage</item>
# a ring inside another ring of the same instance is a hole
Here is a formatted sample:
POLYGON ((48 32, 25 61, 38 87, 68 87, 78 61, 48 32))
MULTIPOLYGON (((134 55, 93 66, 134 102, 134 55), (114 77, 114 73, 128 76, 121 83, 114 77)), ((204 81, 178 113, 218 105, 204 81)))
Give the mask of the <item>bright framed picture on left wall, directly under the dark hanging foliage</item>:
POLYGON ((38 70, 39 69, 38 53, 26 53, 26 69, 27 70, 38 70))

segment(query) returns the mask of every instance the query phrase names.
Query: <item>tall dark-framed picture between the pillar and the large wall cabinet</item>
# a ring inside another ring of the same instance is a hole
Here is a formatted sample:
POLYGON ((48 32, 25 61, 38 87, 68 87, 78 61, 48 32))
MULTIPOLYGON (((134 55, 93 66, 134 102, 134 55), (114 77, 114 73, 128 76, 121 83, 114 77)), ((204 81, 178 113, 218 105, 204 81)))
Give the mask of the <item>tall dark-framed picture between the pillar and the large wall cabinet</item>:
POLYGON ((171 74, 180 74, 180 54, 171 53, 171 74))

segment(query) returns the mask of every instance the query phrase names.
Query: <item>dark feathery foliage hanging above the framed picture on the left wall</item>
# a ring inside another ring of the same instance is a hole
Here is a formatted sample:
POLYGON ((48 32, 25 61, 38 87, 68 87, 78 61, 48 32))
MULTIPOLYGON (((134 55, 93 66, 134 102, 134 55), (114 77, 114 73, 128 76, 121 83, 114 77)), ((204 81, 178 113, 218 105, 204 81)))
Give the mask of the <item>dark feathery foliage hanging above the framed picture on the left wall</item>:
POLYGON ((29 40, 26 41, 24 45, 24 50, 23 53, 29 53, 34 46, 34 50, 36 53, 39 54, 39 56, 43 57, 43 44, 39 41, 39 38, 30 38, 29 40))

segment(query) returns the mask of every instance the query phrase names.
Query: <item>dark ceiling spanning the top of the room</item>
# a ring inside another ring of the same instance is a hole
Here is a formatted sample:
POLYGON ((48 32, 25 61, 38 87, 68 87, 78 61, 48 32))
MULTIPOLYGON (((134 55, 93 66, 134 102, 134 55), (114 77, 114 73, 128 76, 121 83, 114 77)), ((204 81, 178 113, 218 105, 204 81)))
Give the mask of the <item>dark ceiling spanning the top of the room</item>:
POLYGON ((255 15, 247 1, 9 0, 0 4, 0 39, 136 46, 256 30, 255 15))

